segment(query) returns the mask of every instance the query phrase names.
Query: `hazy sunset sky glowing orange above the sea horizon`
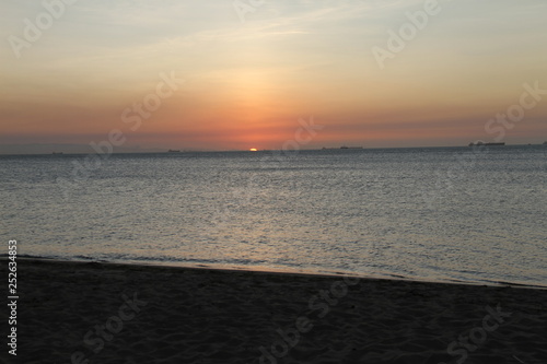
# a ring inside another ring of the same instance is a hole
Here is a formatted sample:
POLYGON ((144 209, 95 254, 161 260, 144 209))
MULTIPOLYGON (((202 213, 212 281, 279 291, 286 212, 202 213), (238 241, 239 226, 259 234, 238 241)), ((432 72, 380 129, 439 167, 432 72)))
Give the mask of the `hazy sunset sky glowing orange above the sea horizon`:
POLYGON ((0 153, 543 143, 546 15, 545 0, 4 0, 0 153))

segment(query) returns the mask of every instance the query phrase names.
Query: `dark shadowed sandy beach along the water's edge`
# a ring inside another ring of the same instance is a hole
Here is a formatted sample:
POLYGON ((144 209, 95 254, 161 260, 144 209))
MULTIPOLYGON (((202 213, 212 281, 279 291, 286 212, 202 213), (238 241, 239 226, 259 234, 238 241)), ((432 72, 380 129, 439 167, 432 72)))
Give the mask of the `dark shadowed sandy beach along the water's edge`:
POLYGON ((540 289, 23 258, 18 289, 2 363, 547 363, 540 289))

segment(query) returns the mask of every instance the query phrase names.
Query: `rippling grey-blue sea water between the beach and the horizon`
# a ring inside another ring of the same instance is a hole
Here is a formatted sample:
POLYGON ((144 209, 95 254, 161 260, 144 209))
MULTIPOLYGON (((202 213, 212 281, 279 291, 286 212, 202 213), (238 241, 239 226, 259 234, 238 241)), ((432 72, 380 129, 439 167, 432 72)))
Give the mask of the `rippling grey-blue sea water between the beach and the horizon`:
POLYGON ((0 171, 20 255, 547 286, 546 145, 4 155, 0 171))

